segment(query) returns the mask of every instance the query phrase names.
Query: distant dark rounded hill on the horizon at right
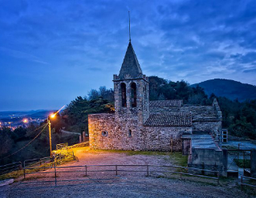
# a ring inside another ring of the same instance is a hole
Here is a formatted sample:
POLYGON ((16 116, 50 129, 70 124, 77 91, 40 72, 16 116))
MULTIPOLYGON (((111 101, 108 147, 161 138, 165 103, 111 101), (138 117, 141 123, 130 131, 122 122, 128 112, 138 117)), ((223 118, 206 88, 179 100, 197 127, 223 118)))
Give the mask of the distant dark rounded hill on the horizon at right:
POLYGON ((197 85, 204 88, 207 95, 213 93, 228 99, 238 99, 240 102, 246 99, 256 99, 256 86, 230 79, 210 79, 191 86, 196 87, 197 85))

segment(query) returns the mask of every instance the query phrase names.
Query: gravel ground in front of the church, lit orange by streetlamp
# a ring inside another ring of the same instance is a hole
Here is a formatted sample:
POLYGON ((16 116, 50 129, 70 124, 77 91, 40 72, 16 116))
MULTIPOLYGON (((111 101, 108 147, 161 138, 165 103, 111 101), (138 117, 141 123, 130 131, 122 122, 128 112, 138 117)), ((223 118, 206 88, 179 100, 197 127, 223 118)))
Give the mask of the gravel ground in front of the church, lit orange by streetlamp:
POLYGON ((91 152, 84 147, 76 148, 75 156, 78 156, 79 162, 62 167, 83 167, 57 168, 57 186, 54 182, 47 182, 55 181, 55 173, 49 169, 45 171, 48 174, 27 175, 26 180, 18 178, 14 184, 0 188, 0 197, 247 197, 237 184, 217 185, 215 181, 203 183, 194 177, 188 180, 183 177, 181 180, 179 176, 153 172, 156 170, 153 167, 149 169, 149 176, 147 167, 118 167, 116 176, 116 166, 87 167, 87 171, 102 172, 87 172, 85 175, 84 165, 173 165, 175 162, 170 155, 91 152), (70 172, 74 170, 77 172, 70 172), (134 170, 142 172, 132 172, 134 170), (39 181, 42 183, 35 183, 39 181))

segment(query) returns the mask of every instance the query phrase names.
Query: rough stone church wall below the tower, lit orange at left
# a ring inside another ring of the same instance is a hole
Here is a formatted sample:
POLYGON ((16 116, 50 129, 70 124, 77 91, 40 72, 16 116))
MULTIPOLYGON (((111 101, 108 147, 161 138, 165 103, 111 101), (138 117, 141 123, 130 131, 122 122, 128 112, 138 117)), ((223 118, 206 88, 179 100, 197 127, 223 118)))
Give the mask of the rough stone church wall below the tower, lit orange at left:
POLYGON ((192 133, 192 127, 144 127, 130 116, 111 114, 88 115, 88 123, 90 146, 95 149, 169 152, 172 147, 181 152, 181 135, 192 133))

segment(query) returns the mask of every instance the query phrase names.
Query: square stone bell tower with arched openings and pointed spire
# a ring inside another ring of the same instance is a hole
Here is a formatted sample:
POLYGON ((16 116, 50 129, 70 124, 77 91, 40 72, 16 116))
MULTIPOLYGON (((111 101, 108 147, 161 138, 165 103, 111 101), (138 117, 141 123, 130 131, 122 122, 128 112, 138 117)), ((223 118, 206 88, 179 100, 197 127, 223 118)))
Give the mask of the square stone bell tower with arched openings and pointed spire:
MULTIPOLYGON (((114 75, 116 119, 144 123, 149 116, 148 77, 143 75, 129 41, 119 75, 114 75)), ((139 124, 138 123, 138 124, 139 124)))

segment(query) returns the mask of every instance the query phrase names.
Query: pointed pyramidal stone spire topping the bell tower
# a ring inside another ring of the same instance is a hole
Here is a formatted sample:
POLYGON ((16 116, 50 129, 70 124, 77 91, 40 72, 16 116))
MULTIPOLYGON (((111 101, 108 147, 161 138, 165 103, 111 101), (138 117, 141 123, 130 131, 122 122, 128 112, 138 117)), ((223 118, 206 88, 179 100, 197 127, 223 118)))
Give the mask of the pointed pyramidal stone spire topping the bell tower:
POLYGON ((129 42, 124 62, 120 69, 120 79, 136 79, 142 75, 140 64, 132 47, 132 42, 129 42))

